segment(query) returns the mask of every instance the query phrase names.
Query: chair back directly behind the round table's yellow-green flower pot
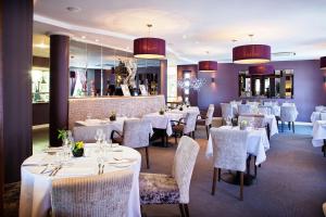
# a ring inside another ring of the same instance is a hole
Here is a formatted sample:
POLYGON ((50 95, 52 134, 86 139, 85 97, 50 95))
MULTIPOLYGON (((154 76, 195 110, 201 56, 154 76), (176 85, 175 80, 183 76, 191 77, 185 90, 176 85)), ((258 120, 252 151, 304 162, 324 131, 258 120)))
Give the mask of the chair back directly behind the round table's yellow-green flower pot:
POLYGON ((73 137, 75 141, 83 141, 85 143, 96 142, 97 130, 102 129, 106 138, 110 137, 111 127, 110 126, 78 126, 73 128, 73 137))

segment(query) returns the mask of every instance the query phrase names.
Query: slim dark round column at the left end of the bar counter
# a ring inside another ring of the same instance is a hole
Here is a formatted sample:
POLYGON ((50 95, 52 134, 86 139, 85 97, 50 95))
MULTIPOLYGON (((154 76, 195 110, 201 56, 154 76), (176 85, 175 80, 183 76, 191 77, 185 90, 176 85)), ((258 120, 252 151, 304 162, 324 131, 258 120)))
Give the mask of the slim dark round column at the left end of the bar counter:
POLYGON ((58 129, 68 122, 70 37, 50 35, 50 145, 59 146, 58 129))

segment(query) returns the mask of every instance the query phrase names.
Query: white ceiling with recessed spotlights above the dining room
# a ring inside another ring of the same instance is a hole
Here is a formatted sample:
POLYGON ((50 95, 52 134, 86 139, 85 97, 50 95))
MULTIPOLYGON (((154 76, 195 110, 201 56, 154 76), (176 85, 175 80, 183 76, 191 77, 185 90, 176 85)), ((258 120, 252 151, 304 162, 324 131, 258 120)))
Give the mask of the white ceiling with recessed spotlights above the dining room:
POLYGON ((37 0, 34 31, 70 33, 130 51, 133 39, 149 35, 150 23, 150 36, 166 40, 170 64, 231 62, 231 48, 246 43, 296 53, 273 61, 312 60, 326 55, 325 11, 325 0, 37 0))

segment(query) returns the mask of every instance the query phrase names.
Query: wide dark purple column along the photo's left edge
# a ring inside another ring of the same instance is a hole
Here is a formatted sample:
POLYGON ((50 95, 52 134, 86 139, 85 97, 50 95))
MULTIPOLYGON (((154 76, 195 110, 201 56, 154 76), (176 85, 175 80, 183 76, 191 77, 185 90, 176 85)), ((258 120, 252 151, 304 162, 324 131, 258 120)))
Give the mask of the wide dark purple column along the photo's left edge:
POLYGON ((1 191, 2 178, 18 181, 21 164, 32 155, 33 9, 33 0, 0 2, 1 191))

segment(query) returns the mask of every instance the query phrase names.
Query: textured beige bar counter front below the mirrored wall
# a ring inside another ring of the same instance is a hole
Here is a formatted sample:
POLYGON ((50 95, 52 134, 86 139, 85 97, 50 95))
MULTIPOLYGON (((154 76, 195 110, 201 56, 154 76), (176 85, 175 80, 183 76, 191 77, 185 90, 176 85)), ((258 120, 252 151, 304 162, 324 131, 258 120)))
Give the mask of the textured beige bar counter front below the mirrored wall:
POLYGON ((108 118, 111 112, 117 115, 141 117, 165 107, 164 95, 149 97, 92 97, 71 98, 68 100, 68 128, 75 122, 91 118, 108 118))

